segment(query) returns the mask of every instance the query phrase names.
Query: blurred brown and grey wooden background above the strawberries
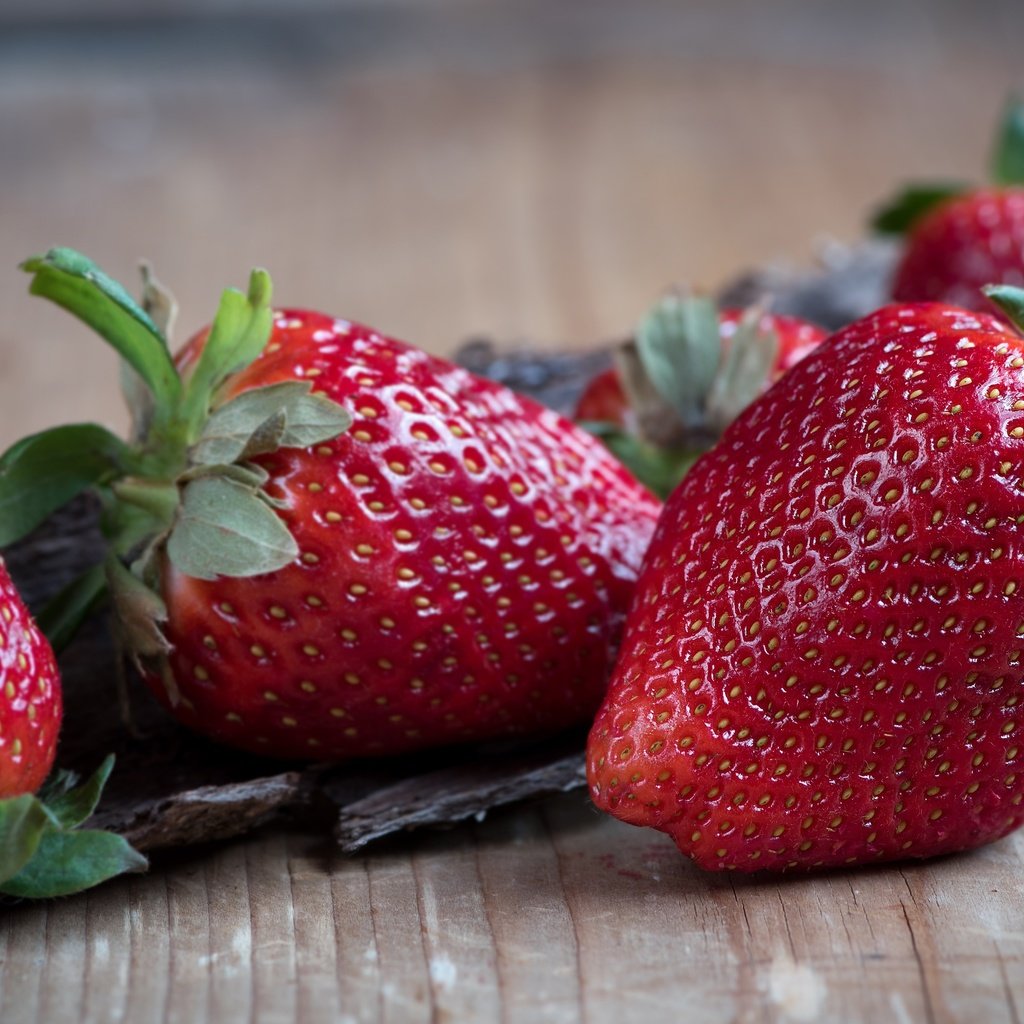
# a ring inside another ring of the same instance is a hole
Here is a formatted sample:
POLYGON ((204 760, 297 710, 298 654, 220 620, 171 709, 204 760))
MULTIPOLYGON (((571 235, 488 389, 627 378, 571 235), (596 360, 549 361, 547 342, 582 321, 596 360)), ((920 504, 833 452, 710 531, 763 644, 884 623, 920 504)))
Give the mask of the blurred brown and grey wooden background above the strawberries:
POLYGON ((124 423, 26 295, 51 245, 151 259, 179 341, 262 264, 435 352, 585 348, 981 177, 1022 39, 1019 0, 0 0, 0 446, 124 423))

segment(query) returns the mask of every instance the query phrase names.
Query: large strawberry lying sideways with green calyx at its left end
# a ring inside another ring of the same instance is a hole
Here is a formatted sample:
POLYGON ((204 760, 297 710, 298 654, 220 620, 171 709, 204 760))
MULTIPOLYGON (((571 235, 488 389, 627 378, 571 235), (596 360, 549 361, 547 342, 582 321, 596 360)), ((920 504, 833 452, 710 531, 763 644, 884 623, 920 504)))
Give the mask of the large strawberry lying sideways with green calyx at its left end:
POLYGON ((124 640, 181 721, 343 758, 590 718, 659 506, 589 434, 371 328, 271 312, 262 272, 175 364, 83 257, 28 268, 141 378, 136 443, 90 428, 75 469, 124 640))

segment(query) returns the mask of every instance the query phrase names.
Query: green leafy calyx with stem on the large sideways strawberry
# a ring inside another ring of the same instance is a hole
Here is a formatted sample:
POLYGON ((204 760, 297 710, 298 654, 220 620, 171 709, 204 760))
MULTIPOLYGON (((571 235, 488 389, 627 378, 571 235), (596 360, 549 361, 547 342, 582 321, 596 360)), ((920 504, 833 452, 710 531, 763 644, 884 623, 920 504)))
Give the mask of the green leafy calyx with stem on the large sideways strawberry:
MULTIPOLYGON (((265 471, 251 460, 328 440, 350 418, 313 395, 308 382, 227 396, 232 375, 259 356, 273 328, 267 272, 254 270, 245 292, 223 293, 198 360, 181 374, 166 337, 176 306, 147 266, 141 303, 71 249, 22 266, 33 294, 63 306, 121 356, 133 426, 127 442, 95 424, 57 427, 0 457, 0 545, 91 489, 103 503, 112 553, 131 563, 144 587, 159 590, 164 552, 180 571, 203 579, 271 572, 292 561, 295 541, 264 489, 265 471)), ((58 595, 43 617, 66 638, 104 582, 123 592, 119 605, 137 603, 136 589, 108 566, 58 595)), ((146 630, 136 623, 132 633, 141 638, 146 630)))

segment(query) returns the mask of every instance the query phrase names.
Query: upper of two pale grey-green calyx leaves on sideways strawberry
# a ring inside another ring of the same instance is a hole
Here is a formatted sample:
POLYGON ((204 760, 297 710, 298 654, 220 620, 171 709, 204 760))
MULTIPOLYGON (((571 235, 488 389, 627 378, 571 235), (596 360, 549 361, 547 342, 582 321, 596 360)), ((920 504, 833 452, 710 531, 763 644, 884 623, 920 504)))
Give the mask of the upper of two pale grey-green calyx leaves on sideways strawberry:
POLYGON ((245 391, 216 410, 191 451, 193 462, 238 462, 280 447, 308 447, 349 428, 348 412, 308 381, 285 381, 245 391))

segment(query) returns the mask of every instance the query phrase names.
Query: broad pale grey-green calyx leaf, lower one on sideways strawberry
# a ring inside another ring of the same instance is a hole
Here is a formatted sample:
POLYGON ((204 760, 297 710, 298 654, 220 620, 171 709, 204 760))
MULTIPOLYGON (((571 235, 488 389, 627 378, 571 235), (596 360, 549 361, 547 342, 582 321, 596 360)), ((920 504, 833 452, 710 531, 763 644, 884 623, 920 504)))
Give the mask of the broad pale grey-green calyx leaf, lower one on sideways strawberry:
POLYGON ((299 553, 295 538, 252 487, 222 476, 185 484, 167 554, 199 580, 250 577, 284 568, 299 553))

